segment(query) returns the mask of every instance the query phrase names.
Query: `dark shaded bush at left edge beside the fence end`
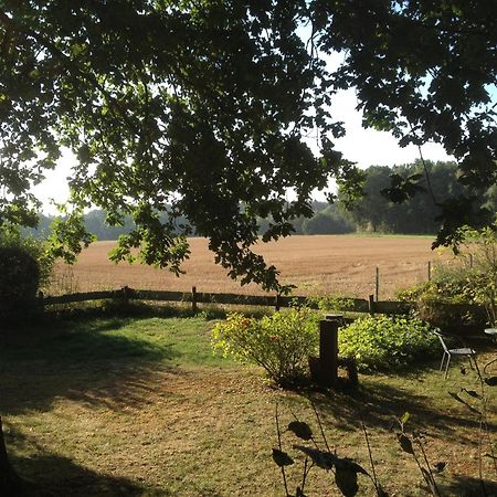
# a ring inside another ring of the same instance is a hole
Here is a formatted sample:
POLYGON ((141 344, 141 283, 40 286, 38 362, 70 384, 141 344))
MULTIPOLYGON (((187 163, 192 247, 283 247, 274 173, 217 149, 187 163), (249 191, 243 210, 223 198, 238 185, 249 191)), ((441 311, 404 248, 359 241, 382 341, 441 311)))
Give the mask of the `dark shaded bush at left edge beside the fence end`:
POLYGON ((35 308, 36 260, 21 247, 0 246, 0 319, 25 317, 35 308))

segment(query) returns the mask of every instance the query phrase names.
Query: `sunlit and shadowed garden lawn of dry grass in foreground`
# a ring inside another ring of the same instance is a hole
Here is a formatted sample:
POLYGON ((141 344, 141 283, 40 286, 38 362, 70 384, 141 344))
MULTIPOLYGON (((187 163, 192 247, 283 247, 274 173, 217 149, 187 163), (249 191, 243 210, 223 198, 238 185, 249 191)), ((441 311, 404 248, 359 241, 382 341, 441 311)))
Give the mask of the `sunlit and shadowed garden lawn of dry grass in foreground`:
MULTIPOLYGON (((422 477, 401 451, 395 416, 424 434, 443 495, 478 494, 478 462, 497 479, 491 459, 478 457, 478 421, 448 395, 476 390, 473 371, 458 364, 443 380, 437 363, 401 376, 360 376, 353 392, 289 392, 272 388, 255 367, 212 356, 213 321, 202 317, 80 316, 52 319, 0 335, 0 414, 18 473, 44 496, 283 496, 272 461, 277 446, 274 414, 316 426, 321 415, 328 443, 339 456, 370 470, 361 429, 368 429, 379 480, 390 495, 425 495, 422 477), (457 490, 465 484, 475 494, 457 490)), ((486 352, 482 362, 491 356, 486 352)), ((488 388, 488 427, 496 440, 497 388, 488 388)), ((296 465, 303 457, 283 444, 296 465)), ((488 452, 485 447, 484 452, 488 452)), ((373 488, 359 476, 358 495, 373 488)), ((497 495, 487 483, 488 495, 497 495)), ((331 474, 310 473, 309 496, 340 495, 331 474)))

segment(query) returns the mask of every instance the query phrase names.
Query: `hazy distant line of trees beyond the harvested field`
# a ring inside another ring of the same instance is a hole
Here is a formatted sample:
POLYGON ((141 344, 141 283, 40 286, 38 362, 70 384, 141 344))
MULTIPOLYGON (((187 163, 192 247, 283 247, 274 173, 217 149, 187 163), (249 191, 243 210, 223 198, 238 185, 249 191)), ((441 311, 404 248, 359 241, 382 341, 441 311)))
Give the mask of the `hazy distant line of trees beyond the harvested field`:
MULTIPOLYGON (((403 166, 371 166, 366 169, 363 184, 364 197, 355 202, 351 210, 345 208, 343 192, 338 188, 338 201, 335 203, 314 202, 313 218, 299 218, 294 221, 296 234, 343 234, 353 232, 379 232, 403 234, 434 234, 440 229, 437 215, 440 205, 450 197, 465 193, 464 187, 457 181, 455 162, 416 161, 403 166), (425 170, 426 168, 426 170, 425 170), (427 172, 427 175, 426 175, 427 172), (381 191, 391 186, 391 175, 402 178, 421 175, 419 191, 403 203, 393 203, 381 191)), ((484 207, 497 211, 497 186, 489 186, 484 198, 484 207)), ((166 221, 167 214, 161 214, 166 221)), ((53 218, 41 215, 40 225, 34 234, 45 236, 50 232, 53 218)), ((87 230, 97 240, 116 240, 120 234, 129 233, 134 222, 124 218, 120 226, 109 226, 106 213, 93 210, 85 214, 87 230)), ((271 220, 260 220, 261 234, 264 233, 271 220)), ((188 220, 178 220, 178 224, 188 224, 188 220)), ((193 230, 194 233, 194 230, 193 230)))

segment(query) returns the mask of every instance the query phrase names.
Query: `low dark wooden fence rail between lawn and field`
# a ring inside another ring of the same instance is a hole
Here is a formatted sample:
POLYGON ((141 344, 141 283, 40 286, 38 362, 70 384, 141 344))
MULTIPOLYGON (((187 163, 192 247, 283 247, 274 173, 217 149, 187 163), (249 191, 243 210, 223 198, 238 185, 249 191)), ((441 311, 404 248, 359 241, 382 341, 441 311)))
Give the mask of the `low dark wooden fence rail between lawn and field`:
MULTIPOLYGON (((263 306, 274 307, 276 310, 282 307, 290 307, 294 305, 307 304, 310 307, 317 308, 317 303, 309 300, 308 297, 303 296, 281 296, 281 295, 242 295, 242 294, 222 294, 222 293, 204 293, 197 292, 192 287, 191 292, 168 292, 168 290, 147 290, 134 289, 127 286, 104 292, 85 292, 77 294, 66 294, 60 296, 39 296, 41 307, 72 304, 92 300, 115 299, 120 302, 129 300, 149 300, 149 302, 173 302, 173 303, 189 303, 193 311, 197 310, 198 304, 220 304, 220 305, 243 305, 243 306, 263 306)), ((396 302, 396 300, 374 300, 373 295, 369 299, 363 298, 343 298, 347 311, 351 313, 369 313, 369 314, 391 314, 402 315, 408 314, 416 307, 415 303, 396 302)), ((446 311, 454 313, 474 310, 477 306, 463 304, 445 304, 446 311)))

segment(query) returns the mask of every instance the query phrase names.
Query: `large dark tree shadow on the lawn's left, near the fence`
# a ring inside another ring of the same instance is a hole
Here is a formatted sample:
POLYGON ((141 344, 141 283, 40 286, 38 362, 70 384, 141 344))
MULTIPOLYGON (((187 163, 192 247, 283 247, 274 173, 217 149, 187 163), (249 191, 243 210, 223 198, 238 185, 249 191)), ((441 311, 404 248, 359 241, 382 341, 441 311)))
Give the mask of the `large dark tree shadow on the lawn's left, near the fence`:
POLYGON ((184 374, 173 343, 119 335, 136 318, 91 316, 0 334, 0 412, 50 410, 57 398, 139 409, 157 370, 184 374))

